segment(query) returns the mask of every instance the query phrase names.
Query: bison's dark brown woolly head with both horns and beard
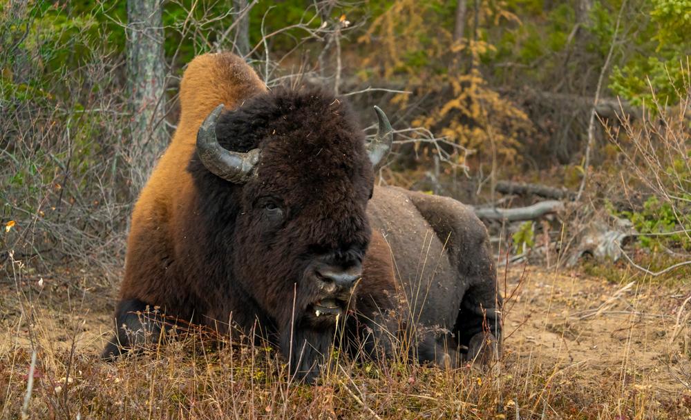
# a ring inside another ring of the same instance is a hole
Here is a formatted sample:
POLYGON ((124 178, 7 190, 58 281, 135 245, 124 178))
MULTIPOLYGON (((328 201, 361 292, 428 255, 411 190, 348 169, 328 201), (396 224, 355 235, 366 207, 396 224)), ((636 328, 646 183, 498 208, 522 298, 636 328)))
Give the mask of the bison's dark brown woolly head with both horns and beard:
POLYGON ((323 352, 314 341, 330 343, 337 315, 354 303, 373 168, 390 148, 391 126, 375 108, 379 133, 366 142, 343 101, 314 91, 270 92, 222 110, 202 124, 190 165, 198 211, 213 219, 209 252, 231 267, 227 281, 240 288, 231 292, 252 299, 283 341, 292 331, 295 350, 323 352))

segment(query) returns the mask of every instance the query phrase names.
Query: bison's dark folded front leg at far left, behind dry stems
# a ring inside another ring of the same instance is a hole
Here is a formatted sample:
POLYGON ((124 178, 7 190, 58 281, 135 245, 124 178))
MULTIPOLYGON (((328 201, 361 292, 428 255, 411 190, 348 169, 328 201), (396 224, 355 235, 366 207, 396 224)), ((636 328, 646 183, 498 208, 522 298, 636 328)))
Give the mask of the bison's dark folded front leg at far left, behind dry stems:
POLYGON ((155 343, 162 334, 163 319, 158 311, 138 299, 120 301, 115 308, 115 337, 106 344, 101 358, 112 361, 146 343, 155 343))

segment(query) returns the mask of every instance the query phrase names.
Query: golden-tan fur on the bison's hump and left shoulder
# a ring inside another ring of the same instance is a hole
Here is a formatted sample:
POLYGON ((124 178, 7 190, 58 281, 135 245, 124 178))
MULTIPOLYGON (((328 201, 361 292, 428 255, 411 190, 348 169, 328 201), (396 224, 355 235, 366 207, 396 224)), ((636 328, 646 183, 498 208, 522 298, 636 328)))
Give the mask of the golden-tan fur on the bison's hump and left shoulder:
POLYGON ((144 270, 159 269, 148 263, 152 255, 159 254, 163 258, 169 254, 173 247, 170 243, 173 235, 169 232, 177 225, 176 215, 181 217, 173 208, 186 206, 191 194, 195 193, 187 163, 195 150, 197 130, 202 121, 220 103, 225 104, 226 109, 233 109, 240 106, 241 101, 266 90, 256 72, 235 54, 203 54, 189 63, 180 83, 178 129, 142 189, 132 213, 121 288, 123 297, 132 295, 146 299, 153 295, 155 288, 167 287, 164 284, 141 286, 138 280, 164 278, 162 272, 144 270))

